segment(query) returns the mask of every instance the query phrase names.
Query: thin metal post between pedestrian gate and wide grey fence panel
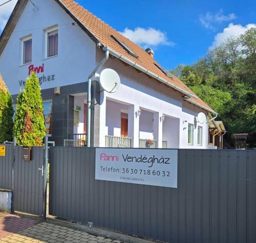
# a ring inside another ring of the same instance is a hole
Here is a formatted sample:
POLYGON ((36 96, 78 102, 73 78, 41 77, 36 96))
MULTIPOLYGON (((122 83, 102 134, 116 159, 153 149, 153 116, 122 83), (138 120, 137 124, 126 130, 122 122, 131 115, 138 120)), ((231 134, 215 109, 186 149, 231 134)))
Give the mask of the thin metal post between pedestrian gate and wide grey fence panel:
POLYGON ((47 171, 48 171, 48 136, 45 136, 45 158, 44 158, 44 187, 43 187, 43 200, 42 203, 42 217, 46 219, 47 214, 47 171))

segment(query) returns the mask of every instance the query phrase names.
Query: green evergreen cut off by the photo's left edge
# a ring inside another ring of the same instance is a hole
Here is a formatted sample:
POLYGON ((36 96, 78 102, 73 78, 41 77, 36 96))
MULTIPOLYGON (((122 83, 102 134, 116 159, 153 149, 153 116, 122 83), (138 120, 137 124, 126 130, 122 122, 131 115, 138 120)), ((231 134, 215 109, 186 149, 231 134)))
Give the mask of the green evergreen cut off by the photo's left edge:
POLYGON ((0 143, 12 141, 13 101, 9 90, 0 75, 0 143))

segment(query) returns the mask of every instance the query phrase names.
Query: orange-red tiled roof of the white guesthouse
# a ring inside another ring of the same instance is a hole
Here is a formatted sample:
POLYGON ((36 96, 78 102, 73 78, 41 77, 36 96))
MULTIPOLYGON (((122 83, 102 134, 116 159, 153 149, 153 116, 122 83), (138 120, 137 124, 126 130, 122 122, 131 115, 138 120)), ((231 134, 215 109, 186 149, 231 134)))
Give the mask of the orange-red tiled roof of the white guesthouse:
MULTIPOLYGON (((65 11, 70 14, 76 21, 82 25, 84 31, 86 31, 89 36, 94 40, 98 40, 104 46, 111 48, 113 51, 119 53, 120 55, 126 57, 127 59, 131 60, 132 62, 137 63, 138 65, 142 66, 143 68, 153 72, 153 74, 161 77, 166 82, 169 82, 172 85, 177 86, 179 89, 183 89, 187 93, 191 93, 197 97, 197 95, 191 91, 183 82, 181 82, 177 77, 174 75, 170 75, 167 77, 155 64, 157 62, 148 55, 139 45, 135 44, 133 41, 129 40, 128 38, 121 35, 118 31, 114 30, 112 27, 107 25, 101 19, 97 18, 95 15, 90 13, 88 10, 84 9, 73 0, 55 0, 58 4, 61 5, 65 11), (85 27, 85 28, 84 28, 85 27), (120 39, 125 45, 127 45, 136 55, 138 58, 130 55, 128 52, 124 50, 124 48, 118 44, 113 37, 115 36, 120 39)), ((28 0, 19 0, 17 5, 14 8, 14 11, 7 23, 5 30, 3 31, 0 42, 2 43, 0 46, 0 54, 3 51, 4 46, 8 41, 8 36, 11 34, 14 28, 14 24, 17 22, 18 15, 20 15, 20 11, 22 8, 25 7, 28 0), (16 16, 17 15, 17 16, 16 16)), ((158 64, 159 65, 159 64, 158 64)), ((189 98, 187 99, 188 102, 193 103, 197 106, 200 106, 208 111, 214 112, 205 102, 203 102, 200 98, 189 98)))

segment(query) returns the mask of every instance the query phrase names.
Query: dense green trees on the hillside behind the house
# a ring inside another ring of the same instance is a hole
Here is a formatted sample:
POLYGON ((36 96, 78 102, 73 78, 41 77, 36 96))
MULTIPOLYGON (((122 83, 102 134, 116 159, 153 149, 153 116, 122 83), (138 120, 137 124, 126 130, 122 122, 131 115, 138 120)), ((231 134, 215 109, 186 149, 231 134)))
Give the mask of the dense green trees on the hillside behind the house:
MULTIPOLYGON (((172 71, 171 71, 172 72, 172 71)), ((219 113, 229 133, 246 132, 256 144, 256 28, 225 40, 190 66, 173 72, 219 113)))

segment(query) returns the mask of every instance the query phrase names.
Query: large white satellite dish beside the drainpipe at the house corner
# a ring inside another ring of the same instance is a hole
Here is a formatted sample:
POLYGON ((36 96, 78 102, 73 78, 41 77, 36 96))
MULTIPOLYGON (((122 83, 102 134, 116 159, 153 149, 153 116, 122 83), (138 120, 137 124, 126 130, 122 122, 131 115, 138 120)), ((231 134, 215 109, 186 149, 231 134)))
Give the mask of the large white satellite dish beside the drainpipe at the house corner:
POLYGON ((120 77, 115 70, 106 68, 101 71, 99 82, 103 90, 114 93, 120 86, 120 77))

